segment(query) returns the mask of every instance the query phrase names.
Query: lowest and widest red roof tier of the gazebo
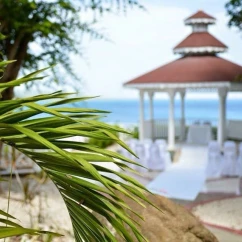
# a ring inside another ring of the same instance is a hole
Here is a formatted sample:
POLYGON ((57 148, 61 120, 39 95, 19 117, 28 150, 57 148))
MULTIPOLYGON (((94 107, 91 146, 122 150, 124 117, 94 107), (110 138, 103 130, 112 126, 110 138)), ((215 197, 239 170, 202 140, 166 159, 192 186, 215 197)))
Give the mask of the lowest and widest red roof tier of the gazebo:
POLYGON ((242 66, 217 56, 187 56, 161 66, 124 85, 233 81, 242 66))

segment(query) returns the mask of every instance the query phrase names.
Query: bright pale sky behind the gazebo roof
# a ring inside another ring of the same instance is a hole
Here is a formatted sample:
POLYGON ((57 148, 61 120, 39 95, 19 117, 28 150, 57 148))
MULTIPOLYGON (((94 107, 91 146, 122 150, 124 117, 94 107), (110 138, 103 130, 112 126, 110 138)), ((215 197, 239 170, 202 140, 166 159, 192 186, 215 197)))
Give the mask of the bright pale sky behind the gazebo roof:
MULTIPOLYGON (((221 56, 242 65, 242 33, 227 27, 226 2, 143 0, 148 12, 130 10, 126 16, 103 17, 97 27, 104 29, 113 42, 86 39, 86 60, 73 58, 76 71, 83 77, 81 94, 101 95, 105 99, 137 98, 138 92, 123 88, 123 83, 179 58, 172 48, 191 32, 183 20, 200 9, 217 18, 210 33, 229 46, 229 51, 221 56)), ((205 93, 200 97, 209 95, 216 97, 205 93)))

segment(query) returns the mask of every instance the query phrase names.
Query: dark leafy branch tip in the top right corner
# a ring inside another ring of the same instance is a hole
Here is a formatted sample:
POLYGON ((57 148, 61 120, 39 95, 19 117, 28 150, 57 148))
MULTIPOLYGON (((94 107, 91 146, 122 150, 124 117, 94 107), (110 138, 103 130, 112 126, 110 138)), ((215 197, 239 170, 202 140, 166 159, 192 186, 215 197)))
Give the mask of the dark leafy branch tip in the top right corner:
POLYGON ((230 0, 226 5, 227 14, 229 15, 230 27, 236 27, 242 30, 242 0, 230 0))

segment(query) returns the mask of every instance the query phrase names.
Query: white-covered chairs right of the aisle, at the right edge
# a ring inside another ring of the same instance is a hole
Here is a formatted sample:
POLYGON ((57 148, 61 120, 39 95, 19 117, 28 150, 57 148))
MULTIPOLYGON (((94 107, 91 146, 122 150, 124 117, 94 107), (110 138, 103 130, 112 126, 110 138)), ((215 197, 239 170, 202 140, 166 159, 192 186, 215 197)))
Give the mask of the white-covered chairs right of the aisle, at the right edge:
POLYGON ((218 142, 210 141, 206 176, 242 176, 242 143, 237 147, 234 141, 226 141, 221 152, 218 142))

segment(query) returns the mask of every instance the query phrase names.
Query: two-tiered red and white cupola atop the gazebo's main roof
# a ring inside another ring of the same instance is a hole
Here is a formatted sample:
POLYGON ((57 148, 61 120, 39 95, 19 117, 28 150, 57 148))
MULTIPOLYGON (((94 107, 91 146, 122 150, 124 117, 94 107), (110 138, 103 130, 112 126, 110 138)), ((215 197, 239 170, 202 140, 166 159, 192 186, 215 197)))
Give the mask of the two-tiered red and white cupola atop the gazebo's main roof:
POLYGON ((185 19, 185 24, 192 26, 192 33, 174 49, 175 54, 215 55, 227 50, 227 46, 208 32, 208 25, 215 24, 216 19, 203 11, 198 11, 185 19))

